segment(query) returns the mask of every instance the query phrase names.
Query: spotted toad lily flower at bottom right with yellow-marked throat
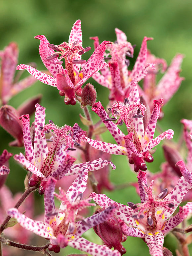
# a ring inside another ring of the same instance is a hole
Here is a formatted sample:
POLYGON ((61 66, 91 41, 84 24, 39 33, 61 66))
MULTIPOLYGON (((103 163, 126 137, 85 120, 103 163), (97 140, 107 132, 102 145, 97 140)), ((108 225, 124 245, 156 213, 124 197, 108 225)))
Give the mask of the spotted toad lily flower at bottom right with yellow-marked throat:
MULTIPOLYGON (((186 169, 183 161, 179 161, 177 165, 183 176, 166 197, 167 189, 154 197, 153 181, 148 187, 146 173, 139 171, 137 178, 141 203, 128 202, 128 206, 118 203, 119 209, 115 210, 115 216, 120 219, 122 232, 128 236, 143 238, 152 256, 164 255, 164 236, 192 213, 192 203, 188 202, 185 206, 180 206, 179 212, 171 217, 185 194, 192 188, 191 173, 186 169)), ((104 194, 93 192, 90 196, 103 209, 115 203, 104 194)))

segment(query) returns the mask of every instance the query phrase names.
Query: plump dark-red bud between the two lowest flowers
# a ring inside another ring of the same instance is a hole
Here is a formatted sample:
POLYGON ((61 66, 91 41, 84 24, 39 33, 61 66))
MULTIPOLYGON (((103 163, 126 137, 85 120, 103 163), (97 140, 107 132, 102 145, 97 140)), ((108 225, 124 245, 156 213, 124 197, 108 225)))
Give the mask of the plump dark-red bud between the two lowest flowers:
MULTIPOLYGON (((100 211, 102 211, 102 209, 96 210, 96 213, 100 211)), ((122 233, 116 217, 112 217, 108 221, 93 227, 93 230, 110 249, 114 247, 114 249, 118 250, 121 255, 126 253, 126 249, 121 244, 126 238, 122 233)))

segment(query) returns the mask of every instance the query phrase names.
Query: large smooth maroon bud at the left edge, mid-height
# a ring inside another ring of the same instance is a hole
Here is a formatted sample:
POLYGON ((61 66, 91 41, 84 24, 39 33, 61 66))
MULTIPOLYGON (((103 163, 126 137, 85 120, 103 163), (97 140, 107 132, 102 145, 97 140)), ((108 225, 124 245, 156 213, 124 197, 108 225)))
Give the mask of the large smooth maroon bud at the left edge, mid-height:
POLYGON ((4 105, 0 108, 0 125, 16 138, 15 146, 23 146, 22 122, 19 121, 19 113, 14 107, 4 105))

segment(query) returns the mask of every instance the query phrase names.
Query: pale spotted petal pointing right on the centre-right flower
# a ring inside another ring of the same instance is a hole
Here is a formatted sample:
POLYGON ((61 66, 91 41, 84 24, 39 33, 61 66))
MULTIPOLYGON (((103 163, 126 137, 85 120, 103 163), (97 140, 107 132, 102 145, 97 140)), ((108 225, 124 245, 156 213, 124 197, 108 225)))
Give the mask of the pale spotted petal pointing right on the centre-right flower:
POLYGON ((151 140, 141 151, 141 153, 145 153, 149 151, 150 149, 154 148, 157 146, 161 140, 163 139, 172 139, 173 138, 174 131, 172 129, 168 129, 167 131, 164 131, 161 133, 159 136, 157 136, 155 139, 151 140))

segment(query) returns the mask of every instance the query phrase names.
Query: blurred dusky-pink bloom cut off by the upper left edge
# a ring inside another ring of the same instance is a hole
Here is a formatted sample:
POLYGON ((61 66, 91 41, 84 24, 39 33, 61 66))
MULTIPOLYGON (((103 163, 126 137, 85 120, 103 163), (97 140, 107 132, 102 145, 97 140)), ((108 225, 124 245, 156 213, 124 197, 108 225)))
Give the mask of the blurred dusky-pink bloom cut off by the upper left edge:
POLYGON ((0 105, 7 104, 14 95, 29 87, 36 81, 32 76, 26 77, 21 81, 14 79, 18 62, 18 53, 18 46, 15 42, 11 42, 3 51, 0 51, 0 105))

